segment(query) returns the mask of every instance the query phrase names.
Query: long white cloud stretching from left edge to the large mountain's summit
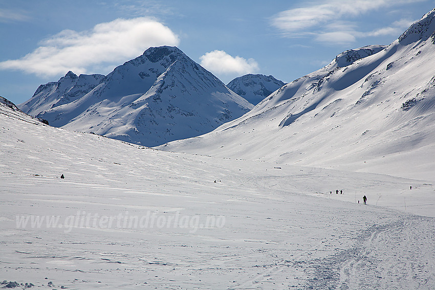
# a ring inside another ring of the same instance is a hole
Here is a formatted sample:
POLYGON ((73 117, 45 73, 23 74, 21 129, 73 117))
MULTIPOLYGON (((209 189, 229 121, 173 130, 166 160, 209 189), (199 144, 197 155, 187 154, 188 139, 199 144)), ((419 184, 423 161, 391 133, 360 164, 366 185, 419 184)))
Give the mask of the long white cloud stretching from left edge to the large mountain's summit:
POLYGON ((151 46, 177 46, 179 42, 175 33, 153 19, 116 19, 98 24, 90 31, 63 30, 41 41, 41 46, 26 56, 0 62, 0 69, 42 76, 70 70, 76 74, 96 73, 93 70, 97 67, 118 65, 151 46))

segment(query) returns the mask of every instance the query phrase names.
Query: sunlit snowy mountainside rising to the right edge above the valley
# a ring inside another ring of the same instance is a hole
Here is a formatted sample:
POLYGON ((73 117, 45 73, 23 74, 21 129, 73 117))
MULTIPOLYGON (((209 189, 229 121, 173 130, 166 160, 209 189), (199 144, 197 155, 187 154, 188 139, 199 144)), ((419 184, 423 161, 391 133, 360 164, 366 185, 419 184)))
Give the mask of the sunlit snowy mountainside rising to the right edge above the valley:
POLYGON ((207 135, 160 148, 433 180, 434 15, 388 47, 340 54, 207 135))

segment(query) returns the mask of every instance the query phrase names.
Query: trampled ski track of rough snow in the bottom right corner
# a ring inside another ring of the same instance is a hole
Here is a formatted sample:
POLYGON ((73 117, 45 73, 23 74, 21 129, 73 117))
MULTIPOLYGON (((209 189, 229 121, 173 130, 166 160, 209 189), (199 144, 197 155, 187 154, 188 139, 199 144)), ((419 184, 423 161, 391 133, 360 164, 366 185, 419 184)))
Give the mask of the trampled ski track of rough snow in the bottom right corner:
POLYGON ((367 229, 356 246, 316 263, 309 284, 314 289, 430 289, 434 227, 432 218, 409 216, 367 229))

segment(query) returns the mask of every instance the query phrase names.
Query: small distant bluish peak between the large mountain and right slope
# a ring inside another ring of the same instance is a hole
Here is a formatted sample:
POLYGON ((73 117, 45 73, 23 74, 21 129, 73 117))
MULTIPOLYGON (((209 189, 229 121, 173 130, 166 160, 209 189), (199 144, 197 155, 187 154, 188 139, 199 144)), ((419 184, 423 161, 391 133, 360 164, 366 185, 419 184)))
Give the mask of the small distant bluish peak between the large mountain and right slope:
POLYGON ((264 98, 278 90, 284 82, 273 76, 248 74, 230 81, 227 86, 237 95, 242 96, 251 104, 258 104, 264 98))

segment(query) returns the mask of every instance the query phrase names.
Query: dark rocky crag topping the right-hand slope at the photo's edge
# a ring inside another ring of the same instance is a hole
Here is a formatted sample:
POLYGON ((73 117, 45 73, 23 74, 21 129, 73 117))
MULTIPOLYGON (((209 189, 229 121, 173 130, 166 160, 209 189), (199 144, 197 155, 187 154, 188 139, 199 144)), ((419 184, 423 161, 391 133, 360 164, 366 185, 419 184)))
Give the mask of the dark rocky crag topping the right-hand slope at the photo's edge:
POLYGON ((423 15, 423 17, 412 24, 400 37, 399 43, 406 46, 419 40, 432 39, 435 44, 435 8, 423 15))

